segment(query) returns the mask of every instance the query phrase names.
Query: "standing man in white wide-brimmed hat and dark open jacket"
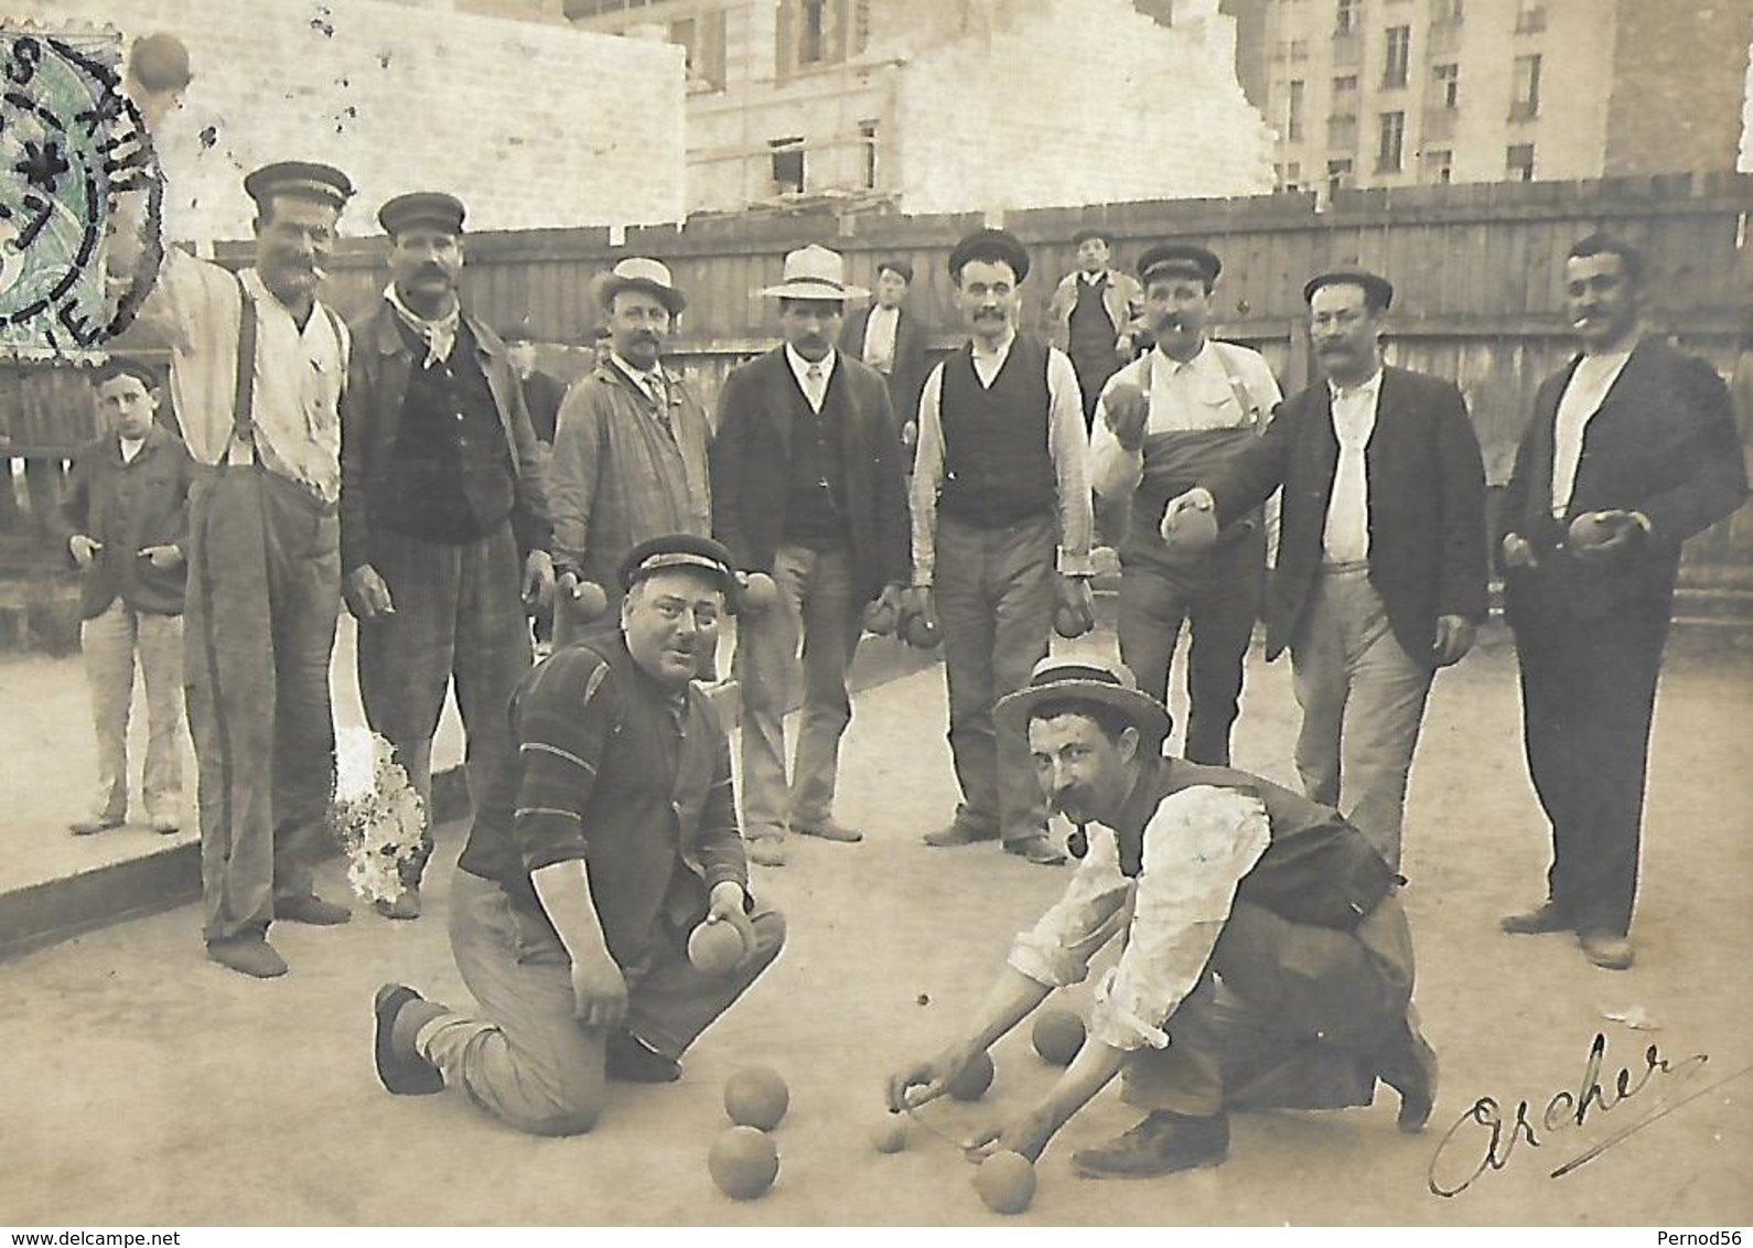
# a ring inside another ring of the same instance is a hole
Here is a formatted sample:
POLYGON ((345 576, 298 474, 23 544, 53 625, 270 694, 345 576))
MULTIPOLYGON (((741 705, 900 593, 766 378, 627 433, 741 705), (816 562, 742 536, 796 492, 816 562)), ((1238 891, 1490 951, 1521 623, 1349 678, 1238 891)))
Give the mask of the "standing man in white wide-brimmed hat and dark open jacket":
POLYGON ((743 831, 763 866, 787 833, 850 843, 834 819, 840 738, 852 722, 847 671, 864 608, 906 584, 901 438, 882 375, 834 349, 848 286, 843 258, 810 245, 785 256, 784 342, 729 375, 712 443, 712 531, 736 568, 771 578, 771 603, 736 620, 743 831), (785 713, 798 705, 785 780, 785 713))

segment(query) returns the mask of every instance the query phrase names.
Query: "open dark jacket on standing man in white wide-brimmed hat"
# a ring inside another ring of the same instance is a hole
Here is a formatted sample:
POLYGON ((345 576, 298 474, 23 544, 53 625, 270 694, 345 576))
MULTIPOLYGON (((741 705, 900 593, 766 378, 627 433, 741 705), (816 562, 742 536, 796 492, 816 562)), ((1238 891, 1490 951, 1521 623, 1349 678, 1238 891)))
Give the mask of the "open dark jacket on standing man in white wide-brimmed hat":
MULTIPOLYGON (((912 575, 901 438, 882 373, 840 352, 829 387, 845 387, 841 464, 857 589, 866 601, 912 575)), ((798 379, 775 347, 729 375, 712 442, 712 531, 745 571, 771 571, 785 535, 798 379)))

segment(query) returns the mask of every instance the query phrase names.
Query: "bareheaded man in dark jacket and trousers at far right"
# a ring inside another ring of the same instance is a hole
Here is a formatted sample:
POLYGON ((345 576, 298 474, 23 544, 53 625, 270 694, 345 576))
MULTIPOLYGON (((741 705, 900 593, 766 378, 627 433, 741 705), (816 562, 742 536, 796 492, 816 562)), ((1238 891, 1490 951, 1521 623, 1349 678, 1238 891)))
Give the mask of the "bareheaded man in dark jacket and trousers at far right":
POLYGON ((1643 254, 1590 235, 1564 279, 1581 354, 1534 396, 1501 547, 1551 869, 1546 901, 1501 925, 1576 932, 1590 962, 1622 971, 1679 550, 1748 482, 1721 377, 1644 331, 1643 254))

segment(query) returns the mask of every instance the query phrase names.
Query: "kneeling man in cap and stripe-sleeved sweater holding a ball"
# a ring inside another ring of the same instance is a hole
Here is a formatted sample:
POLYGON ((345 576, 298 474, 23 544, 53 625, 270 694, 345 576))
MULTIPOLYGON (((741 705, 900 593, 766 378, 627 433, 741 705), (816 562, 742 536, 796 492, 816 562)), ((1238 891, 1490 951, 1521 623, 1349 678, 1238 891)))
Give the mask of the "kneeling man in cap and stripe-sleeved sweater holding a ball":
POLYGON ((517 784, 482 805, 458 861, 451 948, 479 1013, 396 983, 373 1001, 389 1092, 461 1088, 536 1136, 591 1131, 605 1080, 680 1078, 785 941, 749 896, 729 740, 694 684, 736 598, 729 552, 656 538, 617 584, 621 633, 556 650, 517 685, 517 784), (733 964, 694 966, 699 924, 735 931, 733 964))

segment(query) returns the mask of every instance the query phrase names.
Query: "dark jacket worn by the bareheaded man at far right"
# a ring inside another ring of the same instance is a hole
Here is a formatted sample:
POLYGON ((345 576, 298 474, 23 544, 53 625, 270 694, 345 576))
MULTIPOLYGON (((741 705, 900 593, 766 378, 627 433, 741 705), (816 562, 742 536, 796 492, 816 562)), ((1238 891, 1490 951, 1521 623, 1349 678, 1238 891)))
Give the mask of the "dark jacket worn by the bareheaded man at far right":
POLYGON ((1562 519, 1551 515, 1558 400, 1578 359, 1534 396, 1504 496, 1504 528, 1534 543, 1539 568, 1506 571, 1506 610, 1574 617, 1639 606, 1672 608, 1679 547, 1730 515, 1748 496, 1746 461, 1728 387, 1706 361, 1643 338, 1583 431, 1583 456, 1562 519), (1579 563, 1565 547, 1583 512, 1643 512, 1650 535, 1608 563, 1579 563))

